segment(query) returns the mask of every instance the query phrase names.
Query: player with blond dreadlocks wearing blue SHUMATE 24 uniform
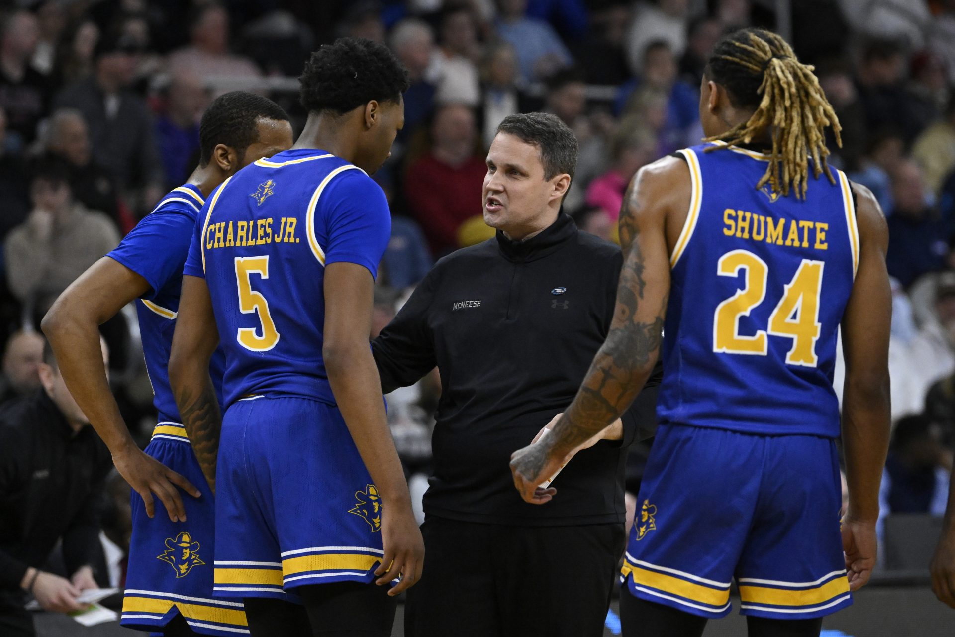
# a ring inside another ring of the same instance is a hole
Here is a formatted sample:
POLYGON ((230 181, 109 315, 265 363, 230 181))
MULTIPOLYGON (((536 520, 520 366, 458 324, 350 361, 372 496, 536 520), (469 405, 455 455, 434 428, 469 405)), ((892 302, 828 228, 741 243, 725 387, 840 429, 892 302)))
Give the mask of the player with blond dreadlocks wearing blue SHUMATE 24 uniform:
POLYGON ((524 499, 549 498, 541 478, 626 408, 663 341, 660 428, 623 569, 628 636, 701 635, 730 612, 733 578, 750 635, 817 635, 876 563, 888 237, 872 194, 826 165, 838 121, 812 71, 775 33, 717 44, 700 97, 709 138, 633 180, 614 326, 553 438, 512 461, 524 499))

